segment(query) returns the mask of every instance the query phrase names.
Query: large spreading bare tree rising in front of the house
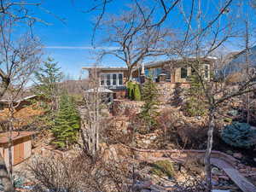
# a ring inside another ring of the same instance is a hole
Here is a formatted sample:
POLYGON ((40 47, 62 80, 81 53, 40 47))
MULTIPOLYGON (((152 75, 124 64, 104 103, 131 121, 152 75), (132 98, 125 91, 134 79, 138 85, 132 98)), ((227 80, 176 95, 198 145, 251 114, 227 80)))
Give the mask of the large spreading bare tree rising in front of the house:
POLYGON ((153 18, 148 14, 150 9, 131 6, 122 15, 112 15, 102 21, 102 30, 108 33, 103 43, 110 49, 100 54, 113 55, 123 61, 128 67, 128 79, 139 67, 144 59, 166 54, 166 39, 171 38, 170 30, 161 29, 153 25, 153 18), (147 18, 143 18, 147 15, 147 18))

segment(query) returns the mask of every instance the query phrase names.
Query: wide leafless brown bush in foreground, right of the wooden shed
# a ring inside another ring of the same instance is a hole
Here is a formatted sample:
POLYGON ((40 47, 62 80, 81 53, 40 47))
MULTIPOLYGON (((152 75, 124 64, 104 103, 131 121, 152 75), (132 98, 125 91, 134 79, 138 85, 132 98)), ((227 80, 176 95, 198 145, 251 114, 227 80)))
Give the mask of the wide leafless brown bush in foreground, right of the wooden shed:
MULTIPOLYGON (((37 157, 29 165, 35 191, 102 191, 121 192, 127 169, 117 162, 106 163, 100 158, 91 160, 83 155, 75 158, 37 157)), ((127 173, 127 174, 126 174, 127 173)))

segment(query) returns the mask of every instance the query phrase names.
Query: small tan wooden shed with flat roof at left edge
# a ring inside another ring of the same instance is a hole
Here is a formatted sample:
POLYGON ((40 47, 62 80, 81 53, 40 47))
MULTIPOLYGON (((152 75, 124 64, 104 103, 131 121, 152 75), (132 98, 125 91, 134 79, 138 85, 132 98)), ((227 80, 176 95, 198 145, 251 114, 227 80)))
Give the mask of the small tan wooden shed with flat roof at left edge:
POLYGON ((12 140, 12 162, 17 165, 31 156, 33 134, 33 131, 12 131, 11 135, 9 132, 0 133, 0 153, 6 166, 9 166, 9 139, 12 140))

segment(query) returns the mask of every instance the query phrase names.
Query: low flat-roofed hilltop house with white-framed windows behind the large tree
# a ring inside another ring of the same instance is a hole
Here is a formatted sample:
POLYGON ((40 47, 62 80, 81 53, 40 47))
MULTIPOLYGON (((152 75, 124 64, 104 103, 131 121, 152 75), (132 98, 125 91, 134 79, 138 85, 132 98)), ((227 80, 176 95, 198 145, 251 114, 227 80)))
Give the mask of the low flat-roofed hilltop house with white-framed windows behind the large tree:
MULTIPOLYGON (((195 59, 190 58, 188 61, 194 62, 195 59)), ((205 79, 210 79, 210 70, 214 61, 213 57, 201 59, 199 68, 205 79)), ((88 70, 89 78, 97 74, 100 85, 114 91, 114 98, 125 96, 125 82, 128 79, 127 67, 83 67, 83 69, 88 70)), ((154 61, 137 67, 132 73, 132 79, 142 82, 143 75, 151 77, 155 82, 188 83, 188 77, 194 73, 193 71, 183 60, 154 61)))

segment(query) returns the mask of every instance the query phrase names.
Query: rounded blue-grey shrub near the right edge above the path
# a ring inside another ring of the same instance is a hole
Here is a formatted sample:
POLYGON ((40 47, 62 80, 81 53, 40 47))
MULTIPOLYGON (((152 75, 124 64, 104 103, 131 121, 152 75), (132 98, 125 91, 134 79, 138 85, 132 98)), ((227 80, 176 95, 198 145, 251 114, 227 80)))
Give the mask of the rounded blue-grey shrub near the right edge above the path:
POLYGON ((255 131, 246 123, 233 122, 226 125, 221 133, 225 143, 238 148, 249 148, 253 145, 253 136, 255 131))

